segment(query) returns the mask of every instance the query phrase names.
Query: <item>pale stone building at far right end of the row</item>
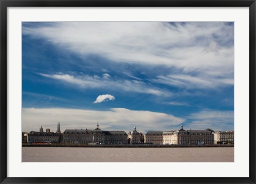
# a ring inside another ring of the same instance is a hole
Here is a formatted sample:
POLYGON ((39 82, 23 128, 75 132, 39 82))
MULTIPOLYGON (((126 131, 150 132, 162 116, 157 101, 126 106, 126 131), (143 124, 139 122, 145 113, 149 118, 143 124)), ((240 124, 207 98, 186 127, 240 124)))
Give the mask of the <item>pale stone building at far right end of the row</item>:
POLYGON ((214 132, 214 144, 222 144, 222 143, 229 143, 233 144, 235 142, 235 137, 234 137, 234 130, 230 131, 218 131, 214 132))

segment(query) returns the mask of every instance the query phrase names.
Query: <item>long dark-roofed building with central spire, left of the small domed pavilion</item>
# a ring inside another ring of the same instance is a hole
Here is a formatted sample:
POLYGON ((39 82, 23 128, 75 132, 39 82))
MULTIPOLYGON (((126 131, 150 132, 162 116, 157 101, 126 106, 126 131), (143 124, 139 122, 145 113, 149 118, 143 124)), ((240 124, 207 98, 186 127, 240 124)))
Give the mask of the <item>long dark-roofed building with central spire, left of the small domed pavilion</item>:
POLYGON ((127 144, 124 131, 104 131, 99 124, 94 130, 67 129, 62 134, 63 143, 82 143, 86 145, 127 144))

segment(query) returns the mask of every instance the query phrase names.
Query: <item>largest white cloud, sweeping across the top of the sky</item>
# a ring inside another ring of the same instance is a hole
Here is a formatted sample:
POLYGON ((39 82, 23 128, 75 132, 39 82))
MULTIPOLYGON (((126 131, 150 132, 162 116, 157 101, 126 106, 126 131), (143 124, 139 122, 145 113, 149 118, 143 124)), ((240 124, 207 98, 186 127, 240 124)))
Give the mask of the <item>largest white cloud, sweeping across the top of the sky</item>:
POLYGON ((224 22, 54 22, 23 27, 79 55, 210 74, 234 69, 234 25, 224 22))

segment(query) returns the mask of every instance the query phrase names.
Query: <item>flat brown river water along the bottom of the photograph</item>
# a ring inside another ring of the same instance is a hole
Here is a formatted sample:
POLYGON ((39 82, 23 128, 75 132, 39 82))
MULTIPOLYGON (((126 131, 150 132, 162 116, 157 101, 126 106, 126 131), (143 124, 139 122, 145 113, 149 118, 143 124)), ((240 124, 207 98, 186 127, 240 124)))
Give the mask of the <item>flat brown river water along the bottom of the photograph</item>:
POLYGON ((227 148, 22 147, 22 162, 234 162, 227 148))

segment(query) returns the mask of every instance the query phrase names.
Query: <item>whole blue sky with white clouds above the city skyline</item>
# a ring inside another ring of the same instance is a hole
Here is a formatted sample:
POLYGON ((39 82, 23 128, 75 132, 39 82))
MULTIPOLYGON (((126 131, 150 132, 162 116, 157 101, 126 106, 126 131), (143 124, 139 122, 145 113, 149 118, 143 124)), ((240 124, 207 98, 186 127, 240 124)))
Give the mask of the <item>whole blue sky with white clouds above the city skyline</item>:
POLYGON ((233 22, 23 22, 22 131, 234 129, 233 22))

